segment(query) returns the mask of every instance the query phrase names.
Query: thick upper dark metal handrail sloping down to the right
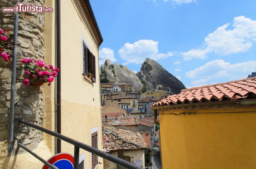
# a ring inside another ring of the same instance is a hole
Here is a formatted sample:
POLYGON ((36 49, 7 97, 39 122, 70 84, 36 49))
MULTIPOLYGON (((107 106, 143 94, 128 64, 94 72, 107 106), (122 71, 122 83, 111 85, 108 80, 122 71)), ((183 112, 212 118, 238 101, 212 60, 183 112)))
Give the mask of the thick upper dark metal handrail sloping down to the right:
POLYGON ((90 152, 92 154, 95 154, 95 155, 97 155, 99 157, 102 157, 102 158, 104 158, 104 159, 106 159, 106 160, 108 160, 110 162, 113 162, 113 163, 115 163, 117 165, 120 165, 121 167, 129 168, 129 169, 133 169, 133 168, 134 169, 142 169, 141 167, 139 167, 137 165, 134 165, 134 164, 132 164, 130 162, 127 162, 126 160, 123 160, 121 158, 118 158, 116 156, 108 154, 106 152, 100 151, 97 148, 88 146, 88 145, 86 145, 86 144, 84 144, 82 142, 76 141, 76 140, 74 140, 72 138, 66 137, 66 136, 61 135, 61 134, 59 134, 57 132, 50 131, 50 130, 45 129, 45 128, 41 127, 41 126, 35 125, 35 124, 31 123, 31 122, 27 122, 27 121, 24 121, 22 119, 20 119, 19 122, 21 122, 22 124, 25 124, 27 126, 33 127, 34 129, 40 130, 42 132, 45 132, 45 133, 47 133, 49 135, 52 135, 54 137, 57 137, 57 138, 59 138, 59 139, 61 139, 63 141, 66 141, 66 142, 68 142, 68 143, 70 143, 72 145, 75 145, 75 146, 77 146, 79 148, 82 148, 82 149, 84 149, 84 150, 86 150, 86 151, 88 151, 88 152, 90 152))

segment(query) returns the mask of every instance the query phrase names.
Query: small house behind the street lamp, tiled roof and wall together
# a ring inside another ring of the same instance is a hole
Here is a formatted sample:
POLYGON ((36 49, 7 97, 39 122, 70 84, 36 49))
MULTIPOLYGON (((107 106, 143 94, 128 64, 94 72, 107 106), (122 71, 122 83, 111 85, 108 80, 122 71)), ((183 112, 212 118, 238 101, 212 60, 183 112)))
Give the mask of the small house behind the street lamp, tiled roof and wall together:
POLYGON ((111 125, 114 127, 117 127, 119 129, 124 129, 124 130, 130 130, 134 132, 138 132, 138 117, 137 116, 127 116, 127 117, 113 117, 113 118, 102 118, 102 124, 107 124, 111 125), (121 124, 115 124, 113 123, 114 121, 118 120, 121 122, 121 124))

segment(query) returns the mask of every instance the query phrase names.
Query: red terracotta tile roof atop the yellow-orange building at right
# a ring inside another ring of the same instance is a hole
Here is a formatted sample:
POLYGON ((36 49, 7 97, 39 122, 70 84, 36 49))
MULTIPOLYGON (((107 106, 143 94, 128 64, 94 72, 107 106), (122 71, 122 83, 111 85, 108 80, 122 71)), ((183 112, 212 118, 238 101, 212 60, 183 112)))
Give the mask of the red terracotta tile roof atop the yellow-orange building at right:
POLYGON ((153 107, 159 105, 217 102, 253 98, 256 98, 256 77, 183 89, 179 94, 168 96, 167 98, 154 103, 153 107))

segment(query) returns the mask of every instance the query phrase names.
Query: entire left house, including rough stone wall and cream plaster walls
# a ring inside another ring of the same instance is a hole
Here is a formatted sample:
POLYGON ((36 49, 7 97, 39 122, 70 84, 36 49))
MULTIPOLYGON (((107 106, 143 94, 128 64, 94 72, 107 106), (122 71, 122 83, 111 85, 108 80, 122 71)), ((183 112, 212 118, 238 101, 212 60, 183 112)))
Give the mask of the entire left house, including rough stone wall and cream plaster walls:
MULTIPOLYGON (((0 6, 12 7, 16 2, 0 1, 0 6)), ((63 135, 90 146, 92 145, 92 134, 102 138, 98 49, 103 39, 89 0, 60 2, 60 11, 62 11, 59 16, 61 45, 57 45, 57 38, 55 38, 58 33, 55 31, 57 22, 55 1, 24 1, 25 5, 29 3, 51 6, 54 10, 53 13, 19 13, 18 43, 20 45, 17 48, 14 121, 14 139, 16 141, 10 158, 7 157, 8 144, 5 141, 8 139, 9 129, 12 60, 3 62, 0 59, 0 168, 31 168, 31 159, 33 159, 33 168, 42 167, 41 161, 34 159, 24 149, 17 148, 17 143, 22 143, 46 160, 58 153, 57 147, 60 147, 62 152, 74 153, 73 145, 62 141, 61 146, 60 144, 58 146, 54 137, 21 125, 18 119, 33 122, 52 131, 57 131, 56 127, 61 125, 63 135), (70 34, 71 36, 67 36, 70 34), (58 53, 59 55, 55 54, 58 47, 61 51, 58 53), (61 104, 56 106, 57 84, 52 83, 51 86, 44 84, 41 87, 25 86, 23 81, 26 76, 21 60, 23 58, 43 60, 46 64, 57 67, 55 65, 57 56, 62 58, 63 69, 60 69, 57 80, 55 80, 58 81, 60 77, 62 79, 61 104), (92 64, 85 69, 88 57, 91 57, 89 59, 92 59, 92 64), (86 76, 89 71, 93 74, 92 80, 86 76), (61 123, 57 125, 55 123, 58 121, 56 109, 59 109, 60 106, 62 118, 61 123)), ((10 29, 10 42, 12 41, 13 23, 14 13, 0 12, 0 28, 10 29)), ((9 45, 7 52, 11 54, 11 51, 12 45, 9 45)), ((94 145, 102 150, 102 139, 95 140, 94 145)), ((82 149, 80 149, 80 154, 81 161, 84 162, 83 168, 103 168, 102 158, 98 157, 92 160, 92 154, 82 149)))

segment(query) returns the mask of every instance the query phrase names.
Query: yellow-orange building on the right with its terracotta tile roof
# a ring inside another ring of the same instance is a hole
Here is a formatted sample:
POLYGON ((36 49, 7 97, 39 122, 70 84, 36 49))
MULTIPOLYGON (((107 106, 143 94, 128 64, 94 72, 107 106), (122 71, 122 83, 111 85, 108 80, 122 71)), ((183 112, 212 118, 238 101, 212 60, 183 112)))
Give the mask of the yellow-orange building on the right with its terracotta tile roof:
POLYGON ((256 168, 256 77, 183 89, 152 109, 162 168, 256 168))

